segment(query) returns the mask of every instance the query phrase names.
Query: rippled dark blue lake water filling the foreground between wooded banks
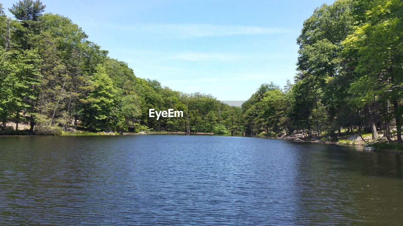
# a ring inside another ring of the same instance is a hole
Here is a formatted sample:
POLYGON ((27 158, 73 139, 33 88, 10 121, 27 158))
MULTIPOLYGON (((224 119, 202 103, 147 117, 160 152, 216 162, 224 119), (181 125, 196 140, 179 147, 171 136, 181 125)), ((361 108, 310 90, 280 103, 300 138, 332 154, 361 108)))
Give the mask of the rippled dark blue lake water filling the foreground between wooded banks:
POLYGON ((403 156, 224 136, 0 137, 0 225, 401 225, 403 156))

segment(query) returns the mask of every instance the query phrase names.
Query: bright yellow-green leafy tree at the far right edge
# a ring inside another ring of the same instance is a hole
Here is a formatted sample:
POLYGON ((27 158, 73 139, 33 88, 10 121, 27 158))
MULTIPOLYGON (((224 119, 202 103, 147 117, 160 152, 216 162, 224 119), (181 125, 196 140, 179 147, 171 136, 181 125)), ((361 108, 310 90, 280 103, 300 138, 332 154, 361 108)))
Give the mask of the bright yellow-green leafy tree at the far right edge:
MULTIPOLYGON (((347 53, 356 58, 355 72, 360 78, 355 86, 366 86, 368 82, 373 85, 373 94, 368 97, 363 93, 363 101, 376 98, 392 103, 397 140, 402 143, 403 2, 355 0, 354 8, 357 25, 343 44, 347 53)), ((388 113, 389 109, 384 111, 388 113)))

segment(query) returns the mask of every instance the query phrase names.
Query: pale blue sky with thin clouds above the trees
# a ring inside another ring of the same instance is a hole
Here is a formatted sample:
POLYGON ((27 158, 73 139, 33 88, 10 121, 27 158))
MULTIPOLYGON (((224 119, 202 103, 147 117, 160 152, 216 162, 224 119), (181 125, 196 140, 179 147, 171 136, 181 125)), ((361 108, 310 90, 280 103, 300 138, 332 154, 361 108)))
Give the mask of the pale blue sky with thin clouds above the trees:
MULTIPOLYGON (((6 9, 15 2, 2 0, 6 9)), ((221 101, 245 101, 262 83, 293 80, 303 21, 332 2, 42 1, 46 12, 69 17, 136 76, 221 101)))

